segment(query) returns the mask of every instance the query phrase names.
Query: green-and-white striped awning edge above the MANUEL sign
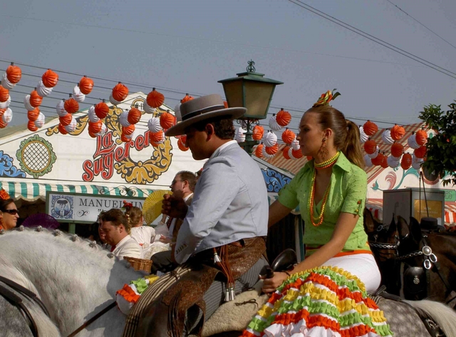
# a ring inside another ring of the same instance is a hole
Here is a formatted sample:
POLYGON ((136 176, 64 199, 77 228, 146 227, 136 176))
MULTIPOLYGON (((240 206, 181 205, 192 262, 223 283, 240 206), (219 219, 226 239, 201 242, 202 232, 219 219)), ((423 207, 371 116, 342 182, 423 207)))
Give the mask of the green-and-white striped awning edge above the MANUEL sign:
POLYGON ((46 199, 46 192, 70 192, 88 195, 111 195, 122 197, 145 198, 154 190, 140 189, 138 187, 108 187, 102 185, 52 185, 38 182, 6 182, 0 180, 0 188, 4 188, 13 199, 35 201, 46 199))

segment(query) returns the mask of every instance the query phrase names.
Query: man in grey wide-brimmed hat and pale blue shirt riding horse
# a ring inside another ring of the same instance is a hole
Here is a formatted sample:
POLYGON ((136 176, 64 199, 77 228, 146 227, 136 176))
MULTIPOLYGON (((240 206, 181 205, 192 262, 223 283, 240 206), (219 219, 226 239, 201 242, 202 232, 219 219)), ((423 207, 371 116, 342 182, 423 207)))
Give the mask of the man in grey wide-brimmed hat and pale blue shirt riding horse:
MULTIPOLYGON (((209 160, 189 207, 182 199, 165 196, 163 213, 184 219, 173 256, 181 268, 191 266, 192 271, 146 309, 136 336, 167 336, 168 329, 176 336, 198 334, 202 308, 206 321, 223 301, 257 283, 267 265, 266 185, 257 163, 233 140, 233 120, 246 111, 225 108, 219 95, 203 96, 183 103, 182 122, 166 132, 187 135, 193 157, 209 160)), ((175 273, 182 273, 179 268, 175 273)))

